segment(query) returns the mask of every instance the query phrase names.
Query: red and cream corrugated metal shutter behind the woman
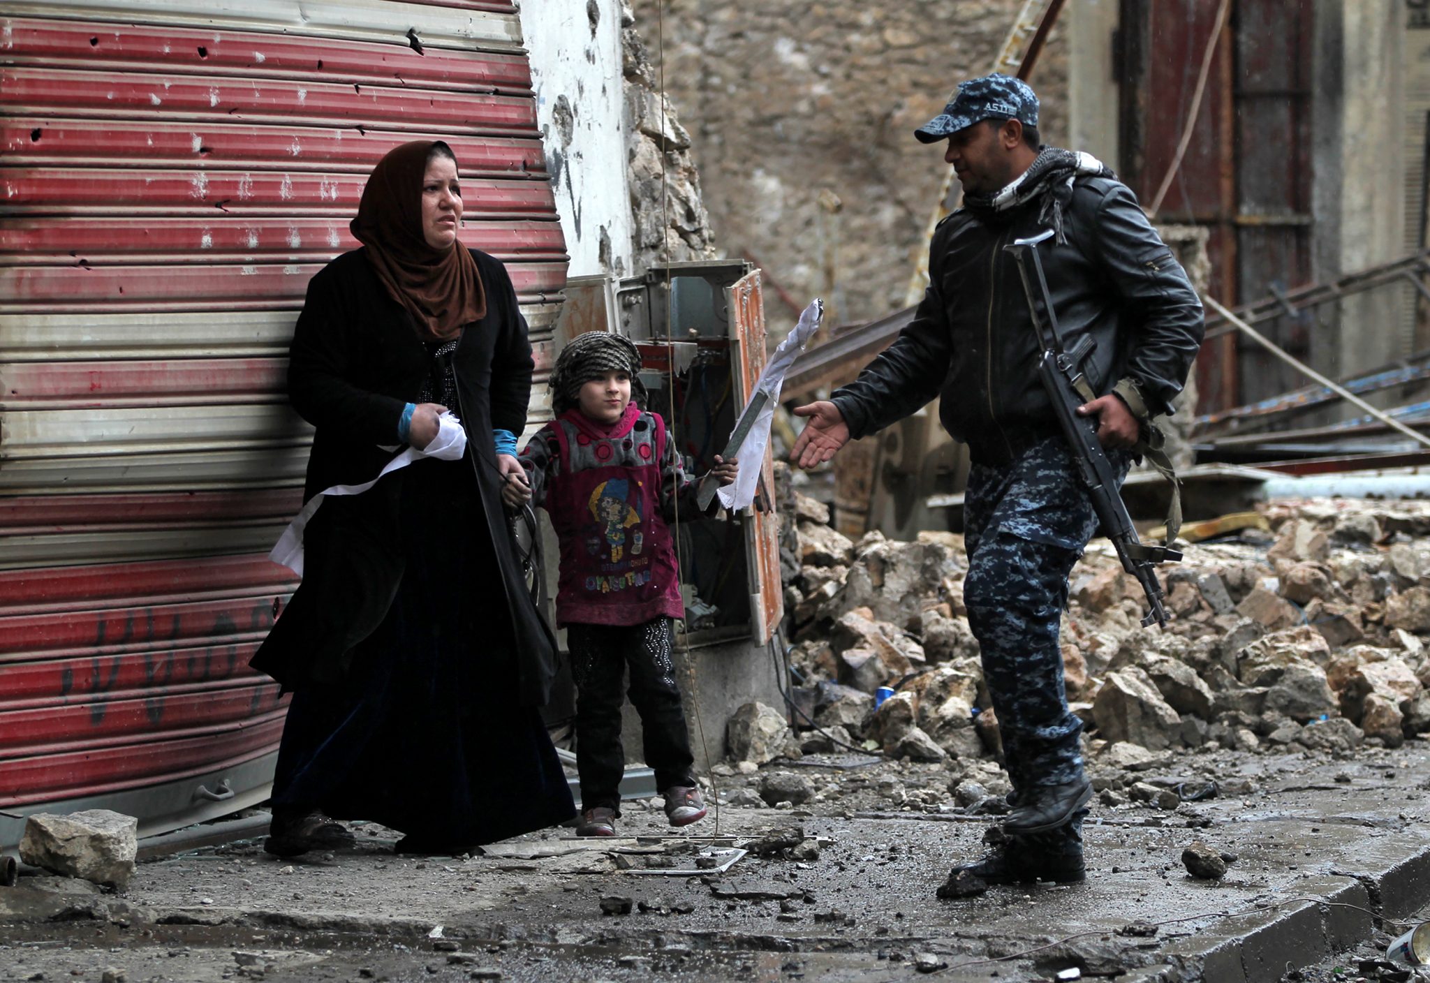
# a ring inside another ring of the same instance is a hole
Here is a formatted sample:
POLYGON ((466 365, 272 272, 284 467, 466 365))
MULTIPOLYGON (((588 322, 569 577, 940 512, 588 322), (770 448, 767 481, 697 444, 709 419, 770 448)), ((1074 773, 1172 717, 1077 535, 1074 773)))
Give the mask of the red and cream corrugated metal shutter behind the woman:
POLYGON ((310 437, 285 353, 372 164, 453 146, 463 240, 511 269, 542 377, 566 256, 511 3, 4 14, 0 809, 24 812, 273 753, 283 702, 246 663, 295 587, 265 559, 310 437))

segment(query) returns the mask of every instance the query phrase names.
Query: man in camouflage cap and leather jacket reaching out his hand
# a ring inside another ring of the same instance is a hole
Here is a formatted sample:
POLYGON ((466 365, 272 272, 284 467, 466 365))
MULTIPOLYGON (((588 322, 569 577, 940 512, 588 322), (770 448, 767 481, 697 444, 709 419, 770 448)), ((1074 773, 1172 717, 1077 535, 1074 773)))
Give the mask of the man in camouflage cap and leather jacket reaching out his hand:
MULTIPOLYGON (((915 131, 922 143, 947 140, 962 207, 934 233, 914 320, 854 383, 795 410, 808 424, 791 453, 814 467, 935 396, 944 427, 968 444, 964 604, 1012 794, 1001 834, 988 837, 994 849, 951 877, 967 870, 995 884, 1085 877, 1093 789, 1058 646, 1068 574, 1098 513, 1111 517, 1108 496, 1121 507, 1115 486, 1155 443, 1151 420, 1171 413, 1203 334, 1201 301, 1133 191, 1090 154, 1041 146, 1037 126, 1032 89, 992 74, 960 84, 915 131), (1030 250, 1047 290, 1025 280, 1030 250), (1085 399, 1074 397, 1065 423, 1095 423, 1087 443, 1114 487, 1090 490, 1085 456, 1060 429, 1050 371, 1040 374, 1045 353, 1075 376, 1085 399)), ((1144 549, 1135 533, 1127 539, 1144 549)), ((1155 576, 1140 579, 1148 620, 1160 617, 1155 576)))

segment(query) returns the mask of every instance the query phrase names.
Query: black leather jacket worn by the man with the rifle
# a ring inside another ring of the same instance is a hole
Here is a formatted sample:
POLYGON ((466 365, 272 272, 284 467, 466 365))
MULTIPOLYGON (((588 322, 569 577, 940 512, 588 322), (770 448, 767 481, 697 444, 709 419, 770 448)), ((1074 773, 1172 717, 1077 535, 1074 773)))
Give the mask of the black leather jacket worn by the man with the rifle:
MULTIPOLYGON (((1114 179, 1080 177, 1062 221, 1067 243, 1050 239, 1038 249, 1064 346, 1091 334, 1094 390, 1101 396, 1121 381, 1127 399, 1123 380, 1130 380, 1134 413, 1170 413, 1201 346, 1201 301, 1185 271, 1114 179)), ((1002 251, 1042 230, 1037 201, 988 220, 962 209, 938 226, 928 293, 912 323, 831 396, 854 437, 935 396, 944 427, 980 463, 1007 463, 1058 433, 1037 374, 1040 349, 1018 267, 1002 251)))

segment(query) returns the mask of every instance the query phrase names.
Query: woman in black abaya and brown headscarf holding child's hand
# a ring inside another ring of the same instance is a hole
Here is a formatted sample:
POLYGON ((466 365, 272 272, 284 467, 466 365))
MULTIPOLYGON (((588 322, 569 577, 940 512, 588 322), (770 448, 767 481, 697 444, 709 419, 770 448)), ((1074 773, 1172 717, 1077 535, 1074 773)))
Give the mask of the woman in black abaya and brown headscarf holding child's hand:
POLYGON ((452 150, 392 150, 352 223, 363 247, 313 277, 297 320, 289 396, 316 427, 305 497, 370 481, 392 444, 426 447, 443 410, 468 447, 325 499, 305 530, 303 583, 253 657, 295 693, 269 853, 350 843, 335 819, 453 853, 575 814, 538 713, 555 642, 500 500, 525 480, 526 321, 506 269, 458 240, 460 219, 452 150))

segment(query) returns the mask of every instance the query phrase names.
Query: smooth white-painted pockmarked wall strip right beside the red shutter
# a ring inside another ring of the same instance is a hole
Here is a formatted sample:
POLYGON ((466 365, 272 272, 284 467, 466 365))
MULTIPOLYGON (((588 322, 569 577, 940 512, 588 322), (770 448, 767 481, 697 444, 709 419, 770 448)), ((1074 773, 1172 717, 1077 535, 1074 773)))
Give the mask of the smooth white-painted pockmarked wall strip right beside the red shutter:
POLYGON ((633 271, 621 6, 619 0, 522 4, 571 276, 633 271))

